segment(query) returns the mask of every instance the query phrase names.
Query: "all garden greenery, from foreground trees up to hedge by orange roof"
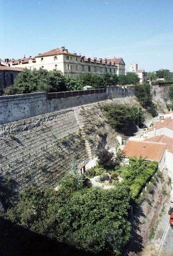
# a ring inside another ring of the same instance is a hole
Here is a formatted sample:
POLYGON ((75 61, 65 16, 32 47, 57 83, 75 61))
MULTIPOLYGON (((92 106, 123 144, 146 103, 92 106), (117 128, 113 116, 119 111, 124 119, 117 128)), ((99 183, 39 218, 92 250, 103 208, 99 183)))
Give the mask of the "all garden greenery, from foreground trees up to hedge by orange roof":
POLYGON ((129 165, 120 165, 121 160, 120 150, 113 157, 104 148, 98 152, 97 165, 86 172, 88 176, 100 175, 100 182, 109 172, 110 189, 92 187, 85 175, 74 171, 60 180, 56 190, 25 187, 17 204, 3 217, 90 254, 121 255, 130 238, 129 208, 157 170, 156 162, 131 158, 129 165), (122 181, 118 181, 119 175, 122 181))

